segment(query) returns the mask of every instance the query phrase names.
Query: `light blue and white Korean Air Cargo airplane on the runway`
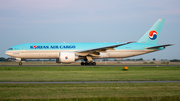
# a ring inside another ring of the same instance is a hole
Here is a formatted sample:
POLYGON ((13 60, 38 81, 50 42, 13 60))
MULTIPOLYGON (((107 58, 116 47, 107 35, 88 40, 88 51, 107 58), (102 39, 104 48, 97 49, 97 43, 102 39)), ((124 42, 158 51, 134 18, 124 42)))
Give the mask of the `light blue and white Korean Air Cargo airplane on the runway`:
POLYGON ((5 54, 21 59, 56 59, 56 63, 96 65, 93 59, 126 58, 165 49, 173 44, 157 45, 165 19, 158 21, 137 42, 122 43, 25 43, 10 47, 5 54))

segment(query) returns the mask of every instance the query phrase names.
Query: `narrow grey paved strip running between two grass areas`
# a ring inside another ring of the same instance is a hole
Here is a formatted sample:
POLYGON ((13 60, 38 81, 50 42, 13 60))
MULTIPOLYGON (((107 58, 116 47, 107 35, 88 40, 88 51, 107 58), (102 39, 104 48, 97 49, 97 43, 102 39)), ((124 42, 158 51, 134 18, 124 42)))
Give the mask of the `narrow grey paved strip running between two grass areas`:
POLYGON ((180 81, 71 81, 71 82, 0 82, 0 84, 83 84, 83 83, 172 83, 180 81))

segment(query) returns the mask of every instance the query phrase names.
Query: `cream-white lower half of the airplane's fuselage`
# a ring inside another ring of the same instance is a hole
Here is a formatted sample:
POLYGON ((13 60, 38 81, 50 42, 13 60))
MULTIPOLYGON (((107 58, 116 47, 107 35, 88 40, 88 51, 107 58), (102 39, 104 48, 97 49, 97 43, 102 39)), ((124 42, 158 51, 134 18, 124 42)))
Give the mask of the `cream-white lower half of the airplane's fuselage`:
MULTIPOLYGON (((23 59, 56 59, 59 58, 60 52, 75 52, 77 56, 87 55, 87 53, 77 53, 77 50, 71 51, 60 51, 60 50, 20 50, 20 51, 6 51, 5 54, 23 59)), ((146 54, 149 52, 154 52, 156 50, 107 50, 106 52, 100 52, 100 55, 94 55, 93 59, 100 58, 125 58, 141 54, 146 54)))

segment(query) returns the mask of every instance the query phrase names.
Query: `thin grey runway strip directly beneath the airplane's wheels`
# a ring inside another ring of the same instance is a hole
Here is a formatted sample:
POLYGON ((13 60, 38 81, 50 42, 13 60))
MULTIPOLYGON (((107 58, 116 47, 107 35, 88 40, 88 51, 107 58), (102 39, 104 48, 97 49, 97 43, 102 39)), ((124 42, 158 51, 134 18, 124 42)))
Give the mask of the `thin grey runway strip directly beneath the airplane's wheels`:
MULTIPOLYGON (((17 67, 19 65, 0 65, 1 67, 17 67)), ((22 65, 21 67, 79 67, 81 65, 22 65)), ((160 66, 178 66, 180 67, 180 65, 96 65, 96 67, 123 67, 123 66, 132 66, 132 67, 160 67, 160 66)), ((83 67, 83 66, 82 66, 83 67)), ((87 66, 84 66, 87 67, 87 66)), ((90 67, 94 67, 94 66, 90 66, 90 67)))

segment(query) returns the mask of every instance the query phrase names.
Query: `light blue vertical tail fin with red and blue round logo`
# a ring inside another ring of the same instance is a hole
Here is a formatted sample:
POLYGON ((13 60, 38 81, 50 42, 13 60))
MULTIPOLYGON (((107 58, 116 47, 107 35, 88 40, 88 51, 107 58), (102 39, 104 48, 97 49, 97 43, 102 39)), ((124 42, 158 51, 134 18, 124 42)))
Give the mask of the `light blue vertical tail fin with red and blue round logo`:
POLYGON ((157 44, 165 19, 159 19, 138 41, 139 43, 157 44))

